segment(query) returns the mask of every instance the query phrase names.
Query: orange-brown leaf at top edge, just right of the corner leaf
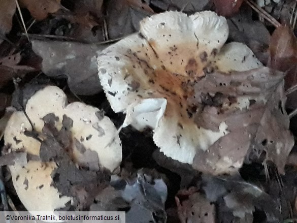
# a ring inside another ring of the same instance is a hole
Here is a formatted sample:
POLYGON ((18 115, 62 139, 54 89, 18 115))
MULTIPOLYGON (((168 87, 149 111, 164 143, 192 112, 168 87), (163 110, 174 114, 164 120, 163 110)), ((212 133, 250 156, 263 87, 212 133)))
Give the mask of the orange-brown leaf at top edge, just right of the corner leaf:
POLYGON ((60 0, 19 0, 23 8, 27 8, 36 20, 45 19, 49 13, 55 13, 60 8, 60 0))

